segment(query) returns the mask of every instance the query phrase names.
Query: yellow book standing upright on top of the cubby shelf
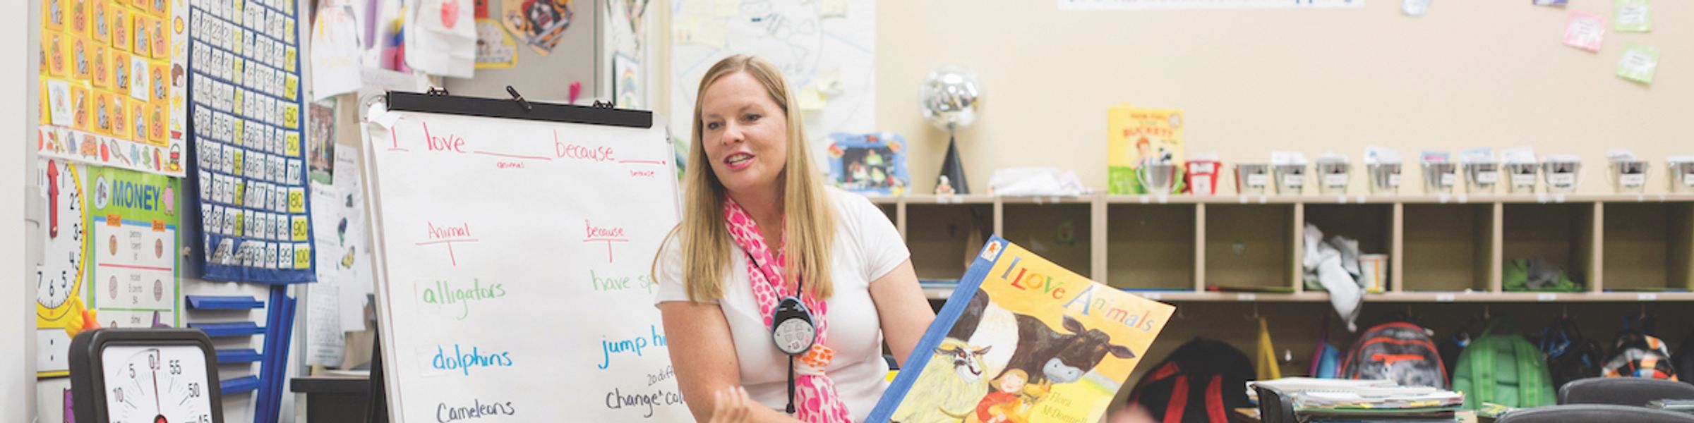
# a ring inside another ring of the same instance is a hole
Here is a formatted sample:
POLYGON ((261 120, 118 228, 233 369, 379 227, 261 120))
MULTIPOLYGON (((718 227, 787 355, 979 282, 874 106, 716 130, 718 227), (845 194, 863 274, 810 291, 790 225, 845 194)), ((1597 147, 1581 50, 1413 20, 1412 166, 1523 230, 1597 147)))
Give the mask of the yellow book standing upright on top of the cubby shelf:
POLYGON ((1177 166, 1171 191, 1182 191, 1182 110, 1137 108, 1128 103, 1106 110, 1106 164, 1111 195, 1145 195, 1137 169, 1149 162, 1177 166))

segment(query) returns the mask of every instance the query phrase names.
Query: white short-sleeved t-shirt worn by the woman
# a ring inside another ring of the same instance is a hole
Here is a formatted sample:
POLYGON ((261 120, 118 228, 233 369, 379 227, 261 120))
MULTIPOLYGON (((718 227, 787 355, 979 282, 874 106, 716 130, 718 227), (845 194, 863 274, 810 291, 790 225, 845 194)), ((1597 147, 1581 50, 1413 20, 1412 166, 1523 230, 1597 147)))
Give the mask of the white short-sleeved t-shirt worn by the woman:
MULTIPOLYGON (((835 393, 847 404, 854 421, 862 421, 876 399, 888 389, 888 362, 883 360, 883 320, 871 301, 871 281, 883 277, 905 262, 911 252, 900 239, 900 230, 859 195, 828 188, 835 205, 835 245, 830 250, 830 277, 835 294, 828 303, 830 340, 835 359, 825 372, 835 381, 835 393)), ((747 281, 747 254, 730 245, 730 279, 723 284, 723 318, 735 338, 735 357, 740 360, 740 382, 747 394, 774 409, 788 406, 788 355, 771 342, 771 328, 764 325, 759 306, 747 281)), ((666 240, 659 257, 659 293, 654 305, 688 301, 683 286, 683 250, 676 237, 666 240)), ((686 354, 686 352, 671 352, 686 354)))

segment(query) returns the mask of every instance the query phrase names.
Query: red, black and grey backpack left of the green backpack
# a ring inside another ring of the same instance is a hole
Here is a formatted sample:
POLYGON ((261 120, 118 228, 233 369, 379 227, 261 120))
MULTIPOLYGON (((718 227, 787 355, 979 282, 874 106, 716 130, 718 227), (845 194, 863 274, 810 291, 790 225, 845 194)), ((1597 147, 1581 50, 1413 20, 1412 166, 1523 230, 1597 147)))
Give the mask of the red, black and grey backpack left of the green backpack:
POLYGON ((1342 379, 1387 379, 1399 386, 1447 389, 1447 365, 1423 327, 1389 321, 1365 330, 1347 349, 1342 379))

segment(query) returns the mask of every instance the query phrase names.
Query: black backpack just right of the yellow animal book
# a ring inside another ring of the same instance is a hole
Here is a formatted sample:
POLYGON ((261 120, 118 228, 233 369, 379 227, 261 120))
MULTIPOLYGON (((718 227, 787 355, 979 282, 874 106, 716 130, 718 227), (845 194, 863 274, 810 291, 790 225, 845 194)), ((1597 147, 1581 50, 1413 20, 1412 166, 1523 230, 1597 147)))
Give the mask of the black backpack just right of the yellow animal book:
POLYGON ((1194 338, 1152 367, 1130 393, 1159 421, 1228 423, 1228 411, 1252 406, 1247 354, 1218 340, 1194 338))

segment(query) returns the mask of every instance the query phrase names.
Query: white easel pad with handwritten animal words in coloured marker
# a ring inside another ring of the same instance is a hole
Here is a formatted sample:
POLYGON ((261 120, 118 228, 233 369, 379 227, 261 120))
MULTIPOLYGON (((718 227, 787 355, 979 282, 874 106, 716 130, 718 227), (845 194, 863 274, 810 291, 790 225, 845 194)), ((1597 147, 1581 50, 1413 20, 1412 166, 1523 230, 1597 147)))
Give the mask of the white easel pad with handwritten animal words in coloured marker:
POLYGON ((678 222, 662 125, 369 120, 393 421, 688 420, 649 276, 678 222))

